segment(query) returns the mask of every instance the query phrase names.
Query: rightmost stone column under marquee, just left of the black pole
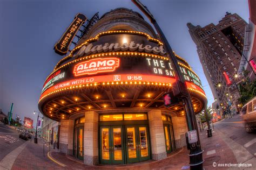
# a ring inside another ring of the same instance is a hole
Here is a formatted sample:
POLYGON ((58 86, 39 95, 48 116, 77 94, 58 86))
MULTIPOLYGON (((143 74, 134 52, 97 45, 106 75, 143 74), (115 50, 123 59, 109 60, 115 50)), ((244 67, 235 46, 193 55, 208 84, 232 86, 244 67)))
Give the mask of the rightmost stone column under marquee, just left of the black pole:
POLYGON ((175 146, 176 148, 180 148, 186 146, 186 136, 185 133, 188 131, 187 129, 187 121, 185 116, 172 117, 174 138, 175 138, 175 146))

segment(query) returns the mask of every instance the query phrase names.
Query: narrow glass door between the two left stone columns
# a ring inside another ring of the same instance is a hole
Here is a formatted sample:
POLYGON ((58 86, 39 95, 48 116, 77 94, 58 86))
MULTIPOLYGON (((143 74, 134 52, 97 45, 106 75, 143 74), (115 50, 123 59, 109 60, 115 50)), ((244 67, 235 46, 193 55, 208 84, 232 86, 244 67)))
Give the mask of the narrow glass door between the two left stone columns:
POLYGON ((78 159, 84 159, 84 129, 76 128, 74 135, 74 155, 78 159))

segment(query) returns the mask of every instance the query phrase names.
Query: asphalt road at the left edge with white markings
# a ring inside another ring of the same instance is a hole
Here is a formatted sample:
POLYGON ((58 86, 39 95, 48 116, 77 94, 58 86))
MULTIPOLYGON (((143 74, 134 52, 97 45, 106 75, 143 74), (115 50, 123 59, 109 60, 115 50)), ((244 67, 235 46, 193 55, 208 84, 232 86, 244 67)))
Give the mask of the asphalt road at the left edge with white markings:
POLYGON ((17 130, 0 124, 0 161, 15 148, 22 145, 26 140, 19 139, 17 130))

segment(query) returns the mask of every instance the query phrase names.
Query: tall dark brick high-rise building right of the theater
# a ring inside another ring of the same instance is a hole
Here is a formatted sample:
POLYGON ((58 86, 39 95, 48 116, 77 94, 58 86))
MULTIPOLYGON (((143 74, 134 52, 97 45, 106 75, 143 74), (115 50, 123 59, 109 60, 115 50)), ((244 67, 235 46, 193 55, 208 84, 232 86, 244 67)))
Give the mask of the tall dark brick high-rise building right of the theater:
POLYGON ((241 61, 246 25, 237 13, 228 12, 217 25, 211 23, 201 27, 187 23, 215 100, 220 108, 233 103, 233 112, 237 111, 235 105, 239 98, 234 75, 241 61))

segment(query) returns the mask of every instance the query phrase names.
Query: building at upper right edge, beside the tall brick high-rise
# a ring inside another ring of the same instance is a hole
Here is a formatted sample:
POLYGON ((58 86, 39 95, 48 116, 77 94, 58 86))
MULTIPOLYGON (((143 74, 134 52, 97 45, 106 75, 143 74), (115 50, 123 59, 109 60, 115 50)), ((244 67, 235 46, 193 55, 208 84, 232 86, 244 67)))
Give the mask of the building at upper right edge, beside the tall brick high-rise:
POLYGON ((249 24, 245 28, 245 41, 244 41, 244 49, 242 54, 244 57, 242 57, 240 66, 239 66, 239 73, 242 73, 243 69, 246 69, 249 71, 249 77, 251 80, 255 80, 255 74, 256 73, 256 1, 254 0, 248 0, 249 3, 249 10, 250 10, 250 18, 249 18, 249 24), (250 62, 251 67, 248 65, 248 62, 250 62))

